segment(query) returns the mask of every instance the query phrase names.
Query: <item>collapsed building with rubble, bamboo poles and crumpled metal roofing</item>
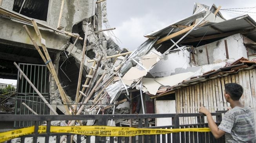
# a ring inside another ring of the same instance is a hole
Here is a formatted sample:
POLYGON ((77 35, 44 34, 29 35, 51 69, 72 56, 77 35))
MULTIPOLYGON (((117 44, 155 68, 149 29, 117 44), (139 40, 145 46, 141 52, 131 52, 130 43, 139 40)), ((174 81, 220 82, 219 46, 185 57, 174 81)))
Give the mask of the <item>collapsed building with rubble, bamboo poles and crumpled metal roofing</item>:
MULTIPOLYGON (((241 102, 256 108, 256 22, 249 15, 226 20, 220 7, 196 3, 192 16, 144 35, 148 39, 129 52, 114 43, 106 1, 100 1, 50 0, 48 6, 3 0, 0 77, 18 80, 15 114, 32 114, 24 104, 37 114, 198 113, 202 105, 217 112, 230 106, 223 94, 224 84, 232 82, 244 88, 241 102)), ((165 120, 149 123, 163 126, 165 120)), ((190 117, 180 120, 196 122, 190 117)), ((74 124, 97 123, 69 123, 74 124)), ((138 122, 112 120, 108 125, 136 127, 138 122)))

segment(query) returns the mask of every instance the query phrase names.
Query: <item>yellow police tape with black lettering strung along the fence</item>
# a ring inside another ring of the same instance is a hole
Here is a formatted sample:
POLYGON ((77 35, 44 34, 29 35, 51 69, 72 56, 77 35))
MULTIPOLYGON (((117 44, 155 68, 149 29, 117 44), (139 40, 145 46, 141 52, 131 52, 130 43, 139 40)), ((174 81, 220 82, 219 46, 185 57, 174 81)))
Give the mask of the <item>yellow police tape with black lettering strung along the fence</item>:
MULTIPOLYGON (((111 127, 111 126, 51 126, 51 133, 71 133, 86 136, 137 136, 153 134, 169 134, 173 132, 210 132, 209 128, 185 128, 185 129, 147 129, 133 127, 111 127)), ((10 130, 0 133, 0 142, 18 138, 34 133, 34 126, 22 129, 10 130)), ((40 125, 38 133, 46 133, 46 126, 40 125)))

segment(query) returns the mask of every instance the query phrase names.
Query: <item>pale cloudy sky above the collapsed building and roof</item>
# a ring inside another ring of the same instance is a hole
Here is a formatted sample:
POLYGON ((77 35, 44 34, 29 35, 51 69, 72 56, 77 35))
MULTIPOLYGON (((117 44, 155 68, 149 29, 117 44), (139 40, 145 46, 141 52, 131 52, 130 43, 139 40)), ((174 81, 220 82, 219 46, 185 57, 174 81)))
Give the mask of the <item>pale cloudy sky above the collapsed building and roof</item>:
POLYGON ((191 16, 195 2, 208 6, 221 5, 221 9, 234 10, 220 10, 227 20, 249 14, 256 21, 255 0, 107 0, 107 18, 110 26, 116 28, 113 30, 115 36, 122 42, 118 45, 134 50, 147 39, 143 35, 191 16), (255 8, 231 9, 247 7, 255 8))

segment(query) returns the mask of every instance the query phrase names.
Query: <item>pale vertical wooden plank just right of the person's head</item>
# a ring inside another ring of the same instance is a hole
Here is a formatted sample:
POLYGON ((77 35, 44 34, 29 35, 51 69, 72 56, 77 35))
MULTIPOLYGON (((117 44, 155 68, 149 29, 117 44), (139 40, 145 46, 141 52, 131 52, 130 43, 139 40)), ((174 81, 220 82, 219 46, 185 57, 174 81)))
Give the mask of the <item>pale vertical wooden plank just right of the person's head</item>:
MULTIPOLYGON (((242 75, 245 73, 245 87, 243 87, 244 90, 244 96, 245 96, 245 105, 249 107, 253 107, 252 104, 252 90, 251 90, 251 83, 250 83, 250 72, 249 70, 242 71, 242 75)), ((243 77, 244 78, 244 77, 243 77)))

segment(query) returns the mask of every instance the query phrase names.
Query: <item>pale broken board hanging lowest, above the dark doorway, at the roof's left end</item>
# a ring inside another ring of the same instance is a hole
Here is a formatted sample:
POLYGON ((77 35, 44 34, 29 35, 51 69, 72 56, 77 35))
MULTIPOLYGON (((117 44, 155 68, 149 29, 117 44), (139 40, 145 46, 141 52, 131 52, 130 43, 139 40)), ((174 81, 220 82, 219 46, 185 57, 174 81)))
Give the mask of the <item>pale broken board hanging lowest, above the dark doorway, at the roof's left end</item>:
POLYGON ((142 85, 147 88, 147 91, 149 91, 150 94, 156 95, 158 89, 162 84, 156 82, 154 79, 150 78, 142 78, 142 85))

